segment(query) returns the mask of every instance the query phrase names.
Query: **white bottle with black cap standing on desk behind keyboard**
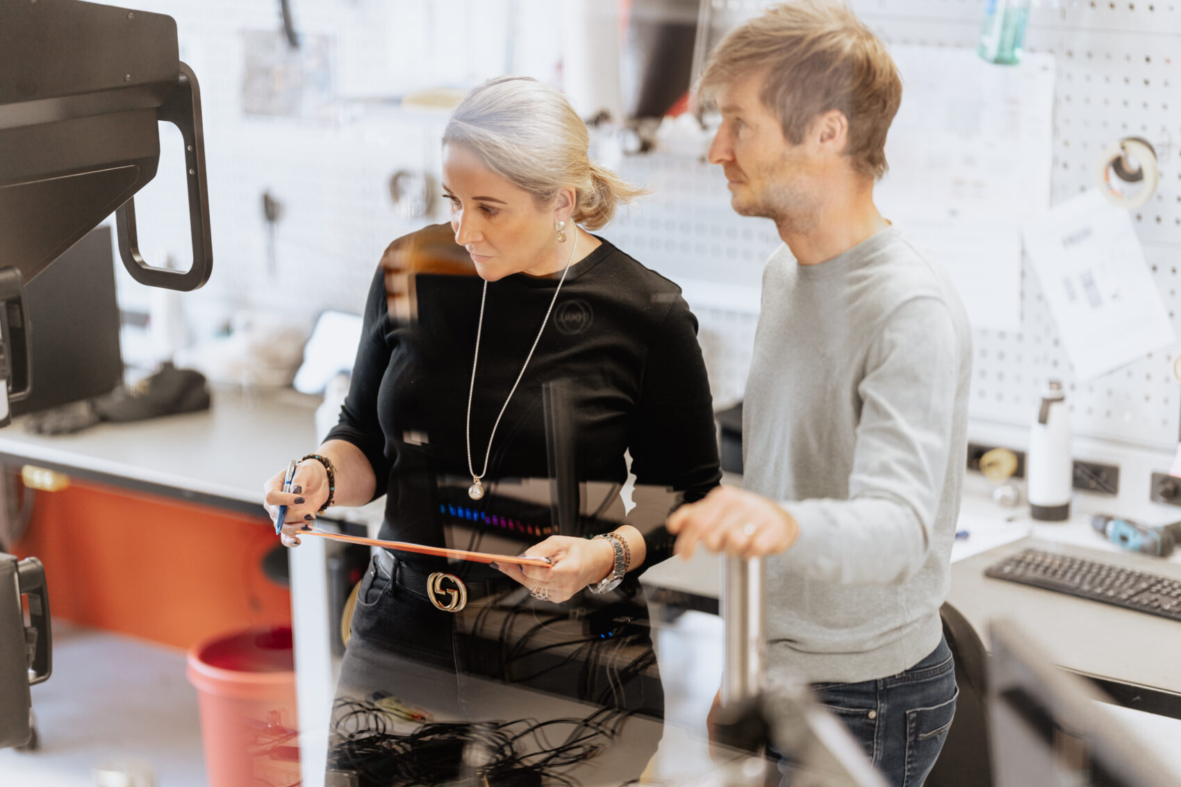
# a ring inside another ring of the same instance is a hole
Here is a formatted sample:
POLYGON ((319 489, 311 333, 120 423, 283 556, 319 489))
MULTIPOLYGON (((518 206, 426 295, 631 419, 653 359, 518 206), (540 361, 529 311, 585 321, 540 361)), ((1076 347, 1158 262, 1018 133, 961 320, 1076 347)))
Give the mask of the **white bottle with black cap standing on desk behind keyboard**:
POLYGON ((1030 515, 1050 522, 1070 518, 1074 489, 1074 460, 1070 456, 1070 409, 1062 383, 1051 379, 1042 391, 1042 404, 1030 425, 1029 499, 1030 515))

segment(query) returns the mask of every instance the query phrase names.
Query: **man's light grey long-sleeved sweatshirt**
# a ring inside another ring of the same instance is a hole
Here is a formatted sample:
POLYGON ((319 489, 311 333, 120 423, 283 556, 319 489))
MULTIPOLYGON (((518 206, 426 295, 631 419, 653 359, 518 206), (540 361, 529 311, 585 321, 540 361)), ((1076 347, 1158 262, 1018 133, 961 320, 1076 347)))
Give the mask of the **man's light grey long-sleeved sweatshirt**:
POLYGON ((771 670, 861 682, 939 644, 971 376, 960 299, 903 230, 771 255, 743 411, 743 486, 800 523, 766 566, 771 670))

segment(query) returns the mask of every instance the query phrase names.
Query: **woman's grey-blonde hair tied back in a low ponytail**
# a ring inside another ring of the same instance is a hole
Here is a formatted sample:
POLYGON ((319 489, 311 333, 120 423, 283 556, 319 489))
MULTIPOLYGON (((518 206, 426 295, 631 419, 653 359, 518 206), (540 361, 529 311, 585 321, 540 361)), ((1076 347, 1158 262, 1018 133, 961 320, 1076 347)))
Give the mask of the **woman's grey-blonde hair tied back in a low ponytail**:
POLYGON ((560 92, 529 77, 497 77, 472 90, 443 131, 443 144, 461 144, 490 170, 540 203, 574 189, 570 219, 603 227, 615 207, 645 194, 587 155, 582 118, 560 92))

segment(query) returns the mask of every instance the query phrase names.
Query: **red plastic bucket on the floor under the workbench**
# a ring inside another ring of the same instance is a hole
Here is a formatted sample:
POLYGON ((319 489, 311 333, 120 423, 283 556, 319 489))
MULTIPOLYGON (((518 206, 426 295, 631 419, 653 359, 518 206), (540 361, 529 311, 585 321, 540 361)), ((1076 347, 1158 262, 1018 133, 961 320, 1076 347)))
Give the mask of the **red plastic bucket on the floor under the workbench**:
POLYGON ((299 780, 295 658, 288 626, 248 629, 189 649, 207 780, 217 787, 299 780))

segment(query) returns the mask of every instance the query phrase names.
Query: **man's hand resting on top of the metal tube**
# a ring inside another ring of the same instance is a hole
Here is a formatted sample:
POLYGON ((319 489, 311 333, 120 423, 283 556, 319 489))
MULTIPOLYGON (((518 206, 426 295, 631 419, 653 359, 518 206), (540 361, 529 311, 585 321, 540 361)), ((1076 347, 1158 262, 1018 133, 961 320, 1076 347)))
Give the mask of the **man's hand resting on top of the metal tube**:
POLYGON ((681 506, 668 518, 673 547, 685 560, 700 544, 710 552, 759 558, 785 552, 800 526, 775 501, 735 487, 718 487, 703 500, 681 506))

